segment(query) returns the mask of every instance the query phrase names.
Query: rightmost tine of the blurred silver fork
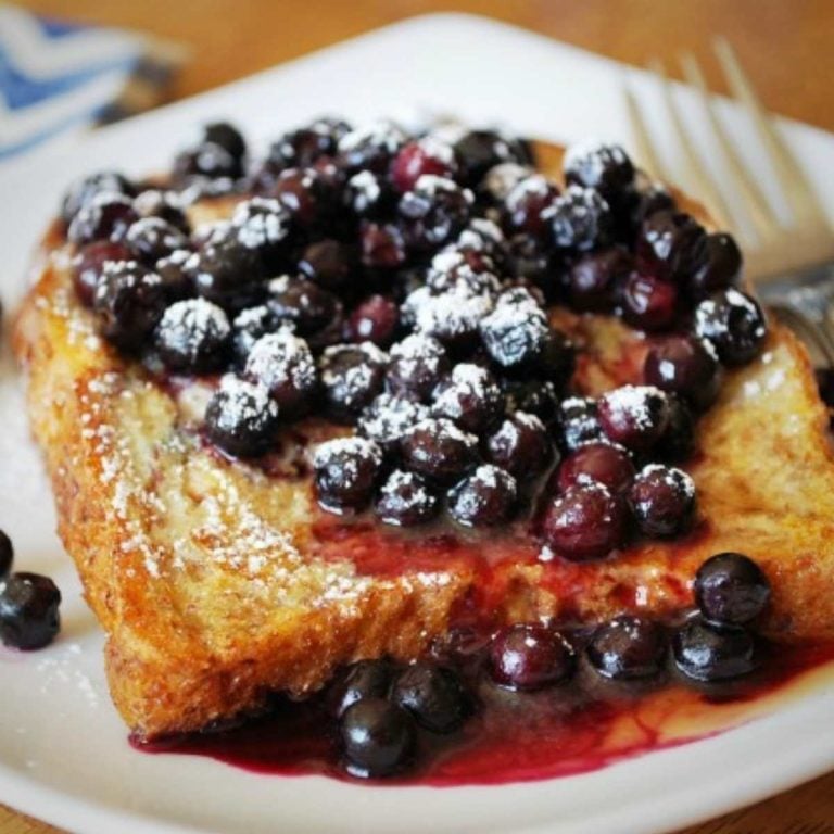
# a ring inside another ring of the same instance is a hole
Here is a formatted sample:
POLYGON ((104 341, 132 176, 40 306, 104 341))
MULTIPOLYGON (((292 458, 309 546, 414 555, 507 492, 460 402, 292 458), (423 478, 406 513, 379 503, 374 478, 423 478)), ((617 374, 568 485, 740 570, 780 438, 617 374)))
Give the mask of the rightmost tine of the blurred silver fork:
POLYGON ((726 38, 717 37, 713 41, 713 49, 733 96, 744 104, 764 142, 764 147, 768 149, 782 190, 792 205, 794 220, 827 227, 829 222, 825 212, 787 144, 766 112, 730 42, 726 38))

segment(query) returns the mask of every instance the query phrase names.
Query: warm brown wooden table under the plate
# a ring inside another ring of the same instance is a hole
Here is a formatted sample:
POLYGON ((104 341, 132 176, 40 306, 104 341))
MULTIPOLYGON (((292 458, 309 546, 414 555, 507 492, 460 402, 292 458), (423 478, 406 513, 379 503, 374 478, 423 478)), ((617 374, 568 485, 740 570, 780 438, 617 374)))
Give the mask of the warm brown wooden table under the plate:
MULTIPOLYGON (((490 15, 633 64, 657 55, 674 74, 679 53, 691 49, 704 58, 708 79, 720 90, 707 45, 711 35, 722 33, 737 48, 771 110, 834 130, 834 0, 23 2, 43 13, 131 26, 189 45, 192 60, 175 85, 175 98, 403 17, 450 10, 490 15)), ((56 834, 0 806, 0 834, 49 832, 56 834)), ((685 834, 834 834, 834 773, 685 834)))

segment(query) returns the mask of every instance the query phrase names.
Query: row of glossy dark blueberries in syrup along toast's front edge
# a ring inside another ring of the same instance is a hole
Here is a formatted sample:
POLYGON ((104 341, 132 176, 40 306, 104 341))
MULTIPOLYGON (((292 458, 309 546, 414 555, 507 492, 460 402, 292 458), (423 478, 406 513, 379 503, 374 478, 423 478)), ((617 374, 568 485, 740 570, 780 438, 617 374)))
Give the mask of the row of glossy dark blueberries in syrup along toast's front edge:
MULTIPOLYGON (((368 778, 410 767, 419 733, 453 734, 482 708, 484 686, 513 691, 517 699, 593 686, 586 698, 594 699, 672 678, 715 687, 749 675, 761 657, 751 627, 770 598, 767 577, 747 556, 721 553, 700 567, 694 591, 697 610, 675 626, 634 615, 591 630, 521 622, 493 633, 463 664, 446 657, 397 667, 383 658, 348 667, 327 698, 345 769, 368 778), (606 681, 616 684, 608 694, 599 688, 606 681)), ((516 707, 523 710, 521 700, 516 707)))

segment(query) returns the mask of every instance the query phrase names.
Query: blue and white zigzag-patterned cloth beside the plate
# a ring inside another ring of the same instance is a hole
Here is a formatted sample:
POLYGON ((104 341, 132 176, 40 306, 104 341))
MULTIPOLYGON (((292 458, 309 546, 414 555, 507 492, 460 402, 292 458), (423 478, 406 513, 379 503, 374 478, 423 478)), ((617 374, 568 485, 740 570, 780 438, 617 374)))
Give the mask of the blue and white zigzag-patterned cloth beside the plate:
POLYGON ((176 45, 0 5, 0 165, 154 106, 182 60, 176 45))

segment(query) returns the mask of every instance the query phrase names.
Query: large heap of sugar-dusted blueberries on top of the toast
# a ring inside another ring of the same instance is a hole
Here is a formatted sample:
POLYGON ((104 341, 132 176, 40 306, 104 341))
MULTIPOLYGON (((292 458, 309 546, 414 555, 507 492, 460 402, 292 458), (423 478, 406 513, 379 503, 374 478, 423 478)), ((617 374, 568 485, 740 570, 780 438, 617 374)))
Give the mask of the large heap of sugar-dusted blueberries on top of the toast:
POLYGON ((315 453, 326 509, 494 526, 541 509, 544 481, 544 540, 589 558, 687 529, 692 482, 671 464, 767 327, 735 289, 732 238, 621 148, 571 149, 564 186, 533 163, 491 130, 330 118, 251 161, 215 124, 164 186, 88 177, 62 217, 106 340, 160 371, 224 374, 205 432, 225 452, 262 455, 323 415, 355 427, 315 453), (218 195, 231 216, 191 228, 188 203, 218 195), (553 304, 649 331, 642 384, 574 396, 553 304))

